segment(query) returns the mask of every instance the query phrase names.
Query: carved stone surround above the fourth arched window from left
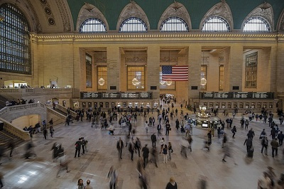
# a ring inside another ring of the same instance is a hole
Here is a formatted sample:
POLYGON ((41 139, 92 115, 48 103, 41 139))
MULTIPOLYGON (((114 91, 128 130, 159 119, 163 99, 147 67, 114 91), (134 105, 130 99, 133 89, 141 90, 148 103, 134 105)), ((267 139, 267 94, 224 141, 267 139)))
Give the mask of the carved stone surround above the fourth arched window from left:
POLYGON ((207 13, 204 15, 200 23, 200 31, 202 30, 204 21, 211 16, 219 16, 221 18, 224 18, 229 23, 230 30, 231 31, 233 30, 234 28, 233 15, 231 14, 231 9, 229 5, 226 3, 226 1, 222 0, 222 2, 215 4, 214 6, 212 6, 211 9, 209 9, 209 11, 207 11, 207 13))

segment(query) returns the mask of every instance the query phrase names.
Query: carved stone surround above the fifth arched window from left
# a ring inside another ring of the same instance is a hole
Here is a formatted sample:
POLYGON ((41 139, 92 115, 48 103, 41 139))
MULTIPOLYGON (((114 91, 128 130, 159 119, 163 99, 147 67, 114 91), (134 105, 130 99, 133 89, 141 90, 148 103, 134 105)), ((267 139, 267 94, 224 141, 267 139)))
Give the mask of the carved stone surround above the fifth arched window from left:
POLYGON ((274 15, 271 4, 264 2, 263 4, 257 6, 256 9, 253 9, 253 11, 251 11, 249 15, 244 18, 244 21, 241 24, 241 30, 244 29, 244 24, 246 23, 246 21, 253 16, 264 18, 271 26, 271 31, 274 31, 274 15))

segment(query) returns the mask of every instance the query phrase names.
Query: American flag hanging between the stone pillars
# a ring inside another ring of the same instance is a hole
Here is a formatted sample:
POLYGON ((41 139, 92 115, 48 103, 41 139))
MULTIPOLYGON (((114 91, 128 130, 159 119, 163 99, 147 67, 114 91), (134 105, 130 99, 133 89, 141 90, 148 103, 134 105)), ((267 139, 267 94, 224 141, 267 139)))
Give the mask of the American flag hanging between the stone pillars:
POLYGON ((162 65, 163 81, 188 81, 188 65, 162 65))

